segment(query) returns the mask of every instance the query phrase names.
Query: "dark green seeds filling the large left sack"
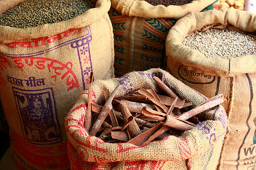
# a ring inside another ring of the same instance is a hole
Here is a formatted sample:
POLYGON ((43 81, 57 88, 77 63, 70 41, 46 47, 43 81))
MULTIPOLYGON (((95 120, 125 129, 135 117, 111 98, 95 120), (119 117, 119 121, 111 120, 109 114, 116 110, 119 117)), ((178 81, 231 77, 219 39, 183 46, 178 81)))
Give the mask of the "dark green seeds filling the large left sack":
POLYGON ((57 23, 93 7, 95 4, 90 0, 28 0, 0 15, 0 25, 28 28, 57 23))

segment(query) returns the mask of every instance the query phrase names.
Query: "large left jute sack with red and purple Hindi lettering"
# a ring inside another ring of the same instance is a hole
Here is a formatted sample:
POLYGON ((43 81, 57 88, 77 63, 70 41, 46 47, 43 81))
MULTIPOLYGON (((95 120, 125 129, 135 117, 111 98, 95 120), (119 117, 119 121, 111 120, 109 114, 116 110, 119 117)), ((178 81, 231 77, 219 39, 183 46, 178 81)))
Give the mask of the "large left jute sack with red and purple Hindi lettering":
POLYGON ((64 119, 90 72, 114 76, 110 1, 76 18, 31 28, 0 26, 0 93, 11 146, 0 169, 69 169, 64 119))

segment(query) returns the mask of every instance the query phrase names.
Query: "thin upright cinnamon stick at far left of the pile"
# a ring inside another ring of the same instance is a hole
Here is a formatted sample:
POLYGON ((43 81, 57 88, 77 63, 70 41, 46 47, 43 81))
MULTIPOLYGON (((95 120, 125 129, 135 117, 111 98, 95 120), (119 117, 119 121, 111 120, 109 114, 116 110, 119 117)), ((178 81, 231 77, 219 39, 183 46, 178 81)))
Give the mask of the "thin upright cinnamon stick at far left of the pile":
POLYGON ((93 83, 93 72, 90 72, 90 87, 88 90, 88 104, 85 114, 84 128, 89 131, 92 126, 92 83, 93 83))

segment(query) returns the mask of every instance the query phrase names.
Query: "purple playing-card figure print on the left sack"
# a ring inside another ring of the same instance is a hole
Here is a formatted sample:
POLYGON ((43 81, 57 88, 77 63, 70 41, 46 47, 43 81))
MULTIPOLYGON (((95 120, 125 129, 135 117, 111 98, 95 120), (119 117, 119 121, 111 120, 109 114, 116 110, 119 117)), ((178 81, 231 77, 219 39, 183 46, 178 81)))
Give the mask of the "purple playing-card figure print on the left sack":
POLYGON ((20 90, 13 87, 13 94, 26 141, 38 145, 61 141, 52 88, 20 90))

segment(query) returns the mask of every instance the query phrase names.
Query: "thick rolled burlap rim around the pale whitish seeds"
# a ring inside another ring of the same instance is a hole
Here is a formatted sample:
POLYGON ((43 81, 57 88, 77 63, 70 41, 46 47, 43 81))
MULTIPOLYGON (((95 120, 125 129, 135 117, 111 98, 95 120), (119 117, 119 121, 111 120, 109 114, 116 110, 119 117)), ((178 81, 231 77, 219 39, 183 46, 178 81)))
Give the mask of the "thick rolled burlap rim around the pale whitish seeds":
POLYGON ((208 71, 208 73, 217 76, 236 76, 245 73, 255 73, 256 55, 229 59, 221 57, 208 58, 203 53, 190 49, 182 44, 188 33, 199 30, 206 25, 218 23, 224 25, 231 24, 246 32, 256 31, 256 15, 252 12, 231 8, 197 13, 191 12, 187 16, 184 16, 184 18, 177 20, 176 24, 168 32, 166 39, 167 61, 171 59, 183 65, 198 67, 202 71, 208 71), (239 15, 239 17, 236 17, 237 20, 233 20, 234 15, 239 15), (242 22, 239 22, 239 20, 242 22))

